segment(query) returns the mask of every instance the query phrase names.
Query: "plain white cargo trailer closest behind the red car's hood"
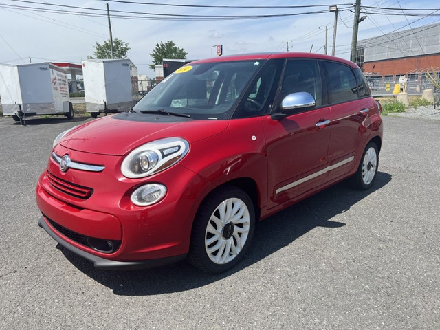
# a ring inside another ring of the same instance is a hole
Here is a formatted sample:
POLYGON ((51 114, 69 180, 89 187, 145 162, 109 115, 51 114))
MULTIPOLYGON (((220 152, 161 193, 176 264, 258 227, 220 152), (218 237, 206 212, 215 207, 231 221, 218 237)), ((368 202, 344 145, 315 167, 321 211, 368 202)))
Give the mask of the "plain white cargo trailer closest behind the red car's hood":
POLYGON ((139 100, 137 67, 129 59, 83 61, 85 109, 99 113, 129 111, 139 100))

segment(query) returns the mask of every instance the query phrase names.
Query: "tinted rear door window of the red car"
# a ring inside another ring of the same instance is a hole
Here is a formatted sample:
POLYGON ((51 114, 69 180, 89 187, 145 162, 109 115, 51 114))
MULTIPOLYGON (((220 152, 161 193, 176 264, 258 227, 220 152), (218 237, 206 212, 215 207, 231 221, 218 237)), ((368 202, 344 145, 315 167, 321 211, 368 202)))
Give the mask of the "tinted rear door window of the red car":
POLYGON ((330 104, 347 102, 358 98, 358 84, 351 67, 342 63, 325 62, 328 74, 330 104))

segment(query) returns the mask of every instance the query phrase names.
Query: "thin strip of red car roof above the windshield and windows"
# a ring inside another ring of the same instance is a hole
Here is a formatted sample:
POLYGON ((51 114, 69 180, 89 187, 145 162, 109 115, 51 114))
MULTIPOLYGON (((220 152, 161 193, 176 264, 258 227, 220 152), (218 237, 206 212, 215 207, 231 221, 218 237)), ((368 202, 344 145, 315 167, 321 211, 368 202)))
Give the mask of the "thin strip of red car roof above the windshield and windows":
POLYGON ((255 53, 255 54, 239 54, 230 56, 219 56, 206 58, 203 60, 197 60, 191 62, 191 64, 198 63, 212 63, 212 62, 230 62, 230 61, 253 61, 253 60, 269 60, 272 58, 314 58, 327 61, 336 61, 347 64, 355 69, 358 69, 358 65, 351 61, 344 60, 344 58, 338 58, 335 56, 315 54, 315 53, 302 53, 302 52, 284 52, 284 53, 255 53))

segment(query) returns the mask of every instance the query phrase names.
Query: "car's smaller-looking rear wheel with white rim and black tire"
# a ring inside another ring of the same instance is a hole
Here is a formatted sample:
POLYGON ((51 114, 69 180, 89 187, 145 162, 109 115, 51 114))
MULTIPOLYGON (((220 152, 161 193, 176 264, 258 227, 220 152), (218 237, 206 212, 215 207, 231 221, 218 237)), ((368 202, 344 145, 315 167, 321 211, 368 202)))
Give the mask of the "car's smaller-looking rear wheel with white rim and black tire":
POLYGON ((379 150, 374 142, 366 145, 364 153, 360 159, 358 170, 350 178, 350 184, 353 188, 367 190, 373 186, 377 177, 377 168, 379 167, 379 150))

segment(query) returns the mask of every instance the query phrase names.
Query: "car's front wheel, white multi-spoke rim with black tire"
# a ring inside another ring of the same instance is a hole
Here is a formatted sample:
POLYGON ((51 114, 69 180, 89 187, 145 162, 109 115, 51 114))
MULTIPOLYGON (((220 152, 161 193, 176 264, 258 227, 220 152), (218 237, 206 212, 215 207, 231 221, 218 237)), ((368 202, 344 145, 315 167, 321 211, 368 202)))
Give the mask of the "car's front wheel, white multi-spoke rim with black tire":
POLYGON ((214 190, 203 201, 194 219, 188 261, 203 272, 215 274, 230 270, 245 256, 254 228, 254 204, 245 191, 235 186, 214 190), (221 220, 223 207, 223 214, 228 217, 221 220), (238 218, 237 214, 240 214, 238 218), (208 249, 212 250, 208 252, 208 249))

